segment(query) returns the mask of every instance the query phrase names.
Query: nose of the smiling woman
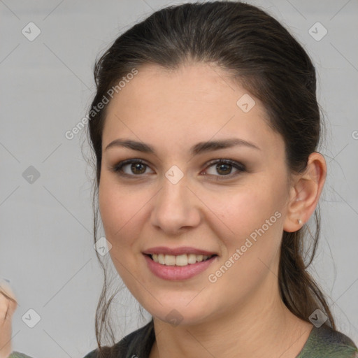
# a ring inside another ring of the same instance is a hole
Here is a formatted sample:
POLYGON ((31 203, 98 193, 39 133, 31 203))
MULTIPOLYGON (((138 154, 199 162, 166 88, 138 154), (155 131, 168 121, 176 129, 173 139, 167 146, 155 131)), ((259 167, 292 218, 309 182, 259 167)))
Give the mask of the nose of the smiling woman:
POLYGON ((152 225, 172 236, 181 234, 183 229, 198 226, 202 204, 189 187, 186 176, 176 183, 164 176, 162 182, 153 204, 152 225))

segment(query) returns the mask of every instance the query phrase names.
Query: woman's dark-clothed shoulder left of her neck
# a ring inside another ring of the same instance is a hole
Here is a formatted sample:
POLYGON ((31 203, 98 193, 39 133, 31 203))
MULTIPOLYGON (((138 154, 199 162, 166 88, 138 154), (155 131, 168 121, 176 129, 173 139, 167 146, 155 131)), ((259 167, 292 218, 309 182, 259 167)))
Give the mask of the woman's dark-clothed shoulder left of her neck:
MULTIPOLYGON (((154 323, 151 320, 145 326, 131 332, 110 348, 116 358, 137 356, 147 358, 155 341, 154 323)), ((109 348, 107 348, 109 349, 109 348)), ((89 352, 84 358, 97 358, 98 348, 89 352)), ((14 357, 15 358, 15 357, 14 357)))

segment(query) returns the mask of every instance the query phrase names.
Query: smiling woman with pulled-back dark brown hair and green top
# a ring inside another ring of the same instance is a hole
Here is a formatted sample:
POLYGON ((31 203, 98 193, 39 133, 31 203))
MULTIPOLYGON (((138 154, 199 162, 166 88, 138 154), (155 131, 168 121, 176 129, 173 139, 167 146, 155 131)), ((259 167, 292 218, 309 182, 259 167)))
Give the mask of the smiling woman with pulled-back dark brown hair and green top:
POLYGON ((103 287, 85 358, 358 357, 303 261, 327 167, 315 69, 289 32, 246 3, 172 6, 94 76, 94 199, 152 320, 103 347, 103 287))

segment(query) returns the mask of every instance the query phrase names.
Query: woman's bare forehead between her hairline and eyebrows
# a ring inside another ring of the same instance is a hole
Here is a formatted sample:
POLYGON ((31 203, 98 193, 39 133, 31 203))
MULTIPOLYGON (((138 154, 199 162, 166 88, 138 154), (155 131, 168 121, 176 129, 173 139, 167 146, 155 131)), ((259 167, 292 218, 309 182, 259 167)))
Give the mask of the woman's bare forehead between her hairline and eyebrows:
POLYGON ((103 148, 119 136, 167 149, 178 143, 182 150, 213 137, 237 136, 282 150, 267 118, 262 103, 217 66, 187 64, 168 70, 145 65, 108 103, 103 148), (250 106, 255 101, 246 113, 238 106, 241 98, 252 100, 250 106))

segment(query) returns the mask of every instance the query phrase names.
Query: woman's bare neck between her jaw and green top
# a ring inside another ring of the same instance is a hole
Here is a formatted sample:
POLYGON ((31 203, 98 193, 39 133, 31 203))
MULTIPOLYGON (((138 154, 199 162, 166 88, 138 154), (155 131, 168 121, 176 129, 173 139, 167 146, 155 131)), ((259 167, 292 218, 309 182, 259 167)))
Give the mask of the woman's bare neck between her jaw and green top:
POLYGON ((280 357, 294 358, 313 325, 293 315, 280 299, 278 287, 262 287, 225 313, 201 324, 178 325, 154 319, 156 341, 150 358, 157 357, 280 357), (267 292, 271 292, 268 296, 267 292))

